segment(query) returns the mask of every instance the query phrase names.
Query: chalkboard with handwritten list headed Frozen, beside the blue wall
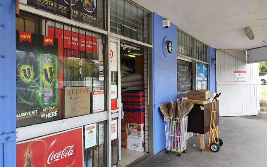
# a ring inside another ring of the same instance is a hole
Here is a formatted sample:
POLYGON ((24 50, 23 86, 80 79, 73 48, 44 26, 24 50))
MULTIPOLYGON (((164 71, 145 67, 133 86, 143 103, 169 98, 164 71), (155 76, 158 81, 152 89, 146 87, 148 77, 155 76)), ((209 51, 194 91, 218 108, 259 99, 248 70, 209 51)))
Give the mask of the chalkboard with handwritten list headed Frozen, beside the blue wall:
POLYGON ((177 59, 177 98, 186 97, 192 88, 192 63, 177 59))

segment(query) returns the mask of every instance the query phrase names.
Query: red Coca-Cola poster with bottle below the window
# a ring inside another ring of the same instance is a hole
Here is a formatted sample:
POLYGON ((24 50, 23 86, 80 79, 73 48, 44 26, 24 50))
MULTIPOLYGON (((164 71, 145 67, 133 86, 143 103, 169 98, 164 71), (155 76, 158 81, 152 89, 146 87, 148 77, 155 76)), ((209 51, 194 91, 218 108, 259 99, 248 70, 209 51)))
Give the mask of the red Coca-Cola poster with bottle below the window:
POLYGON ((83 167, 83 128, 20 142, 16 167, 83 167))

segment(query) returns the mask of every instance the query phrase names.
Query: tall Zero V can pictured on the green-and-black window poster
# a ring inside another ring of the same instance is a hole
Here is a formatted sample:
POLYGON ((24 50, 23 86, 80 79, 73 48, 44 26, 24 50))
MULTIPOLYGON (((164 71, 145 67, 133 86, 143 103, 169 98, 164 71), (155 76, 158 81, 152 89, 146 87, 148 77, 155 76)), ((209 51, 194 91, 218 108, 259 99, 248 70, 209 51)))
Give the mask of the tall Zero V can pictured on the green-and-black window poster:
POLYGON ((41 54, 41 100, 42 104, 51 104, 56 100, 55 94, 55 57, 53 55, 41 54))

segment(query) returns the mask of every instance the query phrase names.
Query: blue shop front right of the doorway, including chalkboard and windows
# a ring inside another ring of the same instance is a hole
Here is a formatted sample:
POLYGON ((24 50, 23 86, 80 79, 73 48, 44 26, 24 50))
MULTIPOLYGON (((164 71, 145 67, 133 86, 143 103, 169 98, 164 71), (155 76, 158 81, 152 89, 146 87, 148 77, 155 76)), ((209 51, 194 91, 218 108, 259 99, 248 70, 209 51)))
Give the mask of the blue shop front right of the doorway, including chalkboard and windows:
MULTIPOLYGON (((197 40, 193 36, 170 24, 163 27, 163 19, 153 13, 153 134, 154 154, 166 148, 165 127, 163 115, 159 106, 170 100, 187 98, 187 92, 192 90, 216 91, 214 48, 197 40), (168 52, 167 41, 173 45, 168 52), (210 50, 210 52, 209 52, 210 50), (210 75, 210 71, 212 72, 210 75), (209 82, 210 76, 212 82, 209 82)), ((187 134, 190 139, 193 133, 187 134)))

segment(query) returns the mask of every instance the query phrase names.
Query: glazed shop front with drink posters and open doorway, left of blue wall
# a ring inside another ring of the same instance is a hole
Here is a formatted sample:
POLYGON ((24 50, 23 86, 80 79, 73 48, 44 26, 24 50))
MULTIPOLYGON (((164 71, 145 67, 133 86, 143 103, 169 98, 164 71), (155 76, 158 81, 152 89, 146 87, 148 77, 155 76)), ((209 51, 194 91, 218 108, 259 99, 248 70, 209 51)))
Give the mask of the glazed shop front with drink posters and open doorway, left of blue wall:
POLYGON ((149 153, 149 24, 130 1, 20 1, 16 166, 126 166, 149 153))

